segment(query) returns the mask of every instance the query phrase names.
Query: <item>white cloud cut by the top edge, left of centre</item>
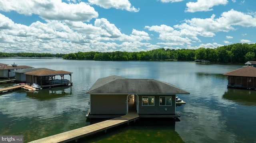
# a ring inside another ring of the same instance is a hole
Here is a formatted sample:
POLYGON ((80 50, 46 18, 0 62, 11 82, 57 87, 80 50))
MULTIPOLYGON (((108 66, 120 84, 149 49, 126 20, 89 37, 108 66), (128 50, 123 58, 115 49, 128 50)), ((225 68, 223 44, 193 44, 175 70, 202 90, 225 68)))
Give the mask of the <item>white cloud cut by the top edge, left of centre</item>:
POLYGON ((129 12, 138 12, 140 8, 134 8, 129 0, 88 0, 90 4, 96 4, 102 8, 116 8, 121 10, 127 10, 129 12))

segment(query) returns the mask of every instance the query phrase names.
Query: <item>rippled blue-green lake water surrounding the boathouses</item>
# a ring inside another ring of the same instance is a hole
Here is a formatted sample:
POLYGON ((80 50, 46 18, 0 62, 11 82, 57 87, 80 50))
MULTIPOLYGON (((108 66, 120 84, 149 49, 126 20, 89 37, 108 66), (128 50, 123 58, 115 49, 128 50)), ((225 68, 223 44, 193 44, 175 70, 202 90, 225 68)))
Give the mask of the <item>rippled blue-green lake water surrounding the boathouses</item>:
MULTIPOLYGON (((154 78, 188 92, 172 125, 129 125, 84 142, 256 143, 256 91, 227 89, 223 73, 242 65, 179 61, 77 61, 0 59, 0 63, 73 72, 73 86, 0 95, 0 135, 24 135, 24 142, 89 125, 87 90, 98 78, 154 78)), ((67 78, 69 79, 69 78, 67 78)), ((14 83, 0 84, 0 88, 14 83)), ((158 120, 157 120, 158 121, 158 120)), ((155 122, 157 122, 155 121, 155 122)))

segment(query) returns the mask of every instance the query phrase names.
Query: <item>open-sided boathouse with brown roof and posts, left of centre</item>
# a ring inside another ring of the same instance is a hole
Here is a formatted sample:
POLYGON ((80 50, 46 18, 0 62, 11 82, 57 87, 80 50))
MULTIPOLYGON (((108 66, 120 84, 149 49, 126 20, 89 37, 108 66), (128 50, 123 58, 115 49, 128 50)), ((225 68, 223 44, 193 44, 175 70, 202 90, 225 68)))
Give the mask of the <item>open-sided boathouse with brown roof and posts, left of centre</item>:
POLYGON ((68 71, 55 71, 51 69, 40 69, 36 71, 30 71, 24 73, 26 74, 26 83, 36 83, 42 88, 54 87, 54 86, 64 86, 72 85, 72 72, 68 71), (70 80, 65 79, 65 75, 69 75, 70 80), (60 76, 60 79, 56 76, 60 76))

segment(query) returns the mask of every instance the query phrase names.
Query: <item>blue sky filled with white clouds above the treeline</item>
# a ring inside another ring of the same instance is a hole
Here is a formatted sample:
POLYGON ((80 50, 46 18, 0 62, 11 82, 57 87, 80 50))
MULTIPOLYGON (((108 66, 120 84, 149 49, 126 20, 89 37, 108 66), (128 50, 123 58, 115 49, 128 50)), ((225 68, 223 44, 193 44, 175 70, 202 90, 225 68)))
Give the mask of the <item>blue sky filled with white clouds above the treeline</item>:
POLYGON ((0 0, 0 52, 76 53, 256 43, 256 0, 0 0))

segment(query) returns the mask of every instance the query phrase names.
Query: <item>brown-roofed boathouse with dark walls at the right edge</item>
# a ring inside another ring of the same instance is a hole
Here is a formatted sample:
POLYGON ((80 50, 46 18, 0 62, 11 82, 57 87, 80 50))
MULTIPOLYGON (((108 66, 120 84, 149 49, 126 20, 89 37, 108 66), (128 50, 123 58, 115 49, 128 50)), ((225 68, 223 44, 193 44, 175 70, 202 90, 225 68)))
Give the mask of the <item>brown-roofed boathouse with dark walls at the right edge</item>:
POLYGON ((243 67, 223 75, 228 76, 228 88, 256 89, 256 67, 243 67))

